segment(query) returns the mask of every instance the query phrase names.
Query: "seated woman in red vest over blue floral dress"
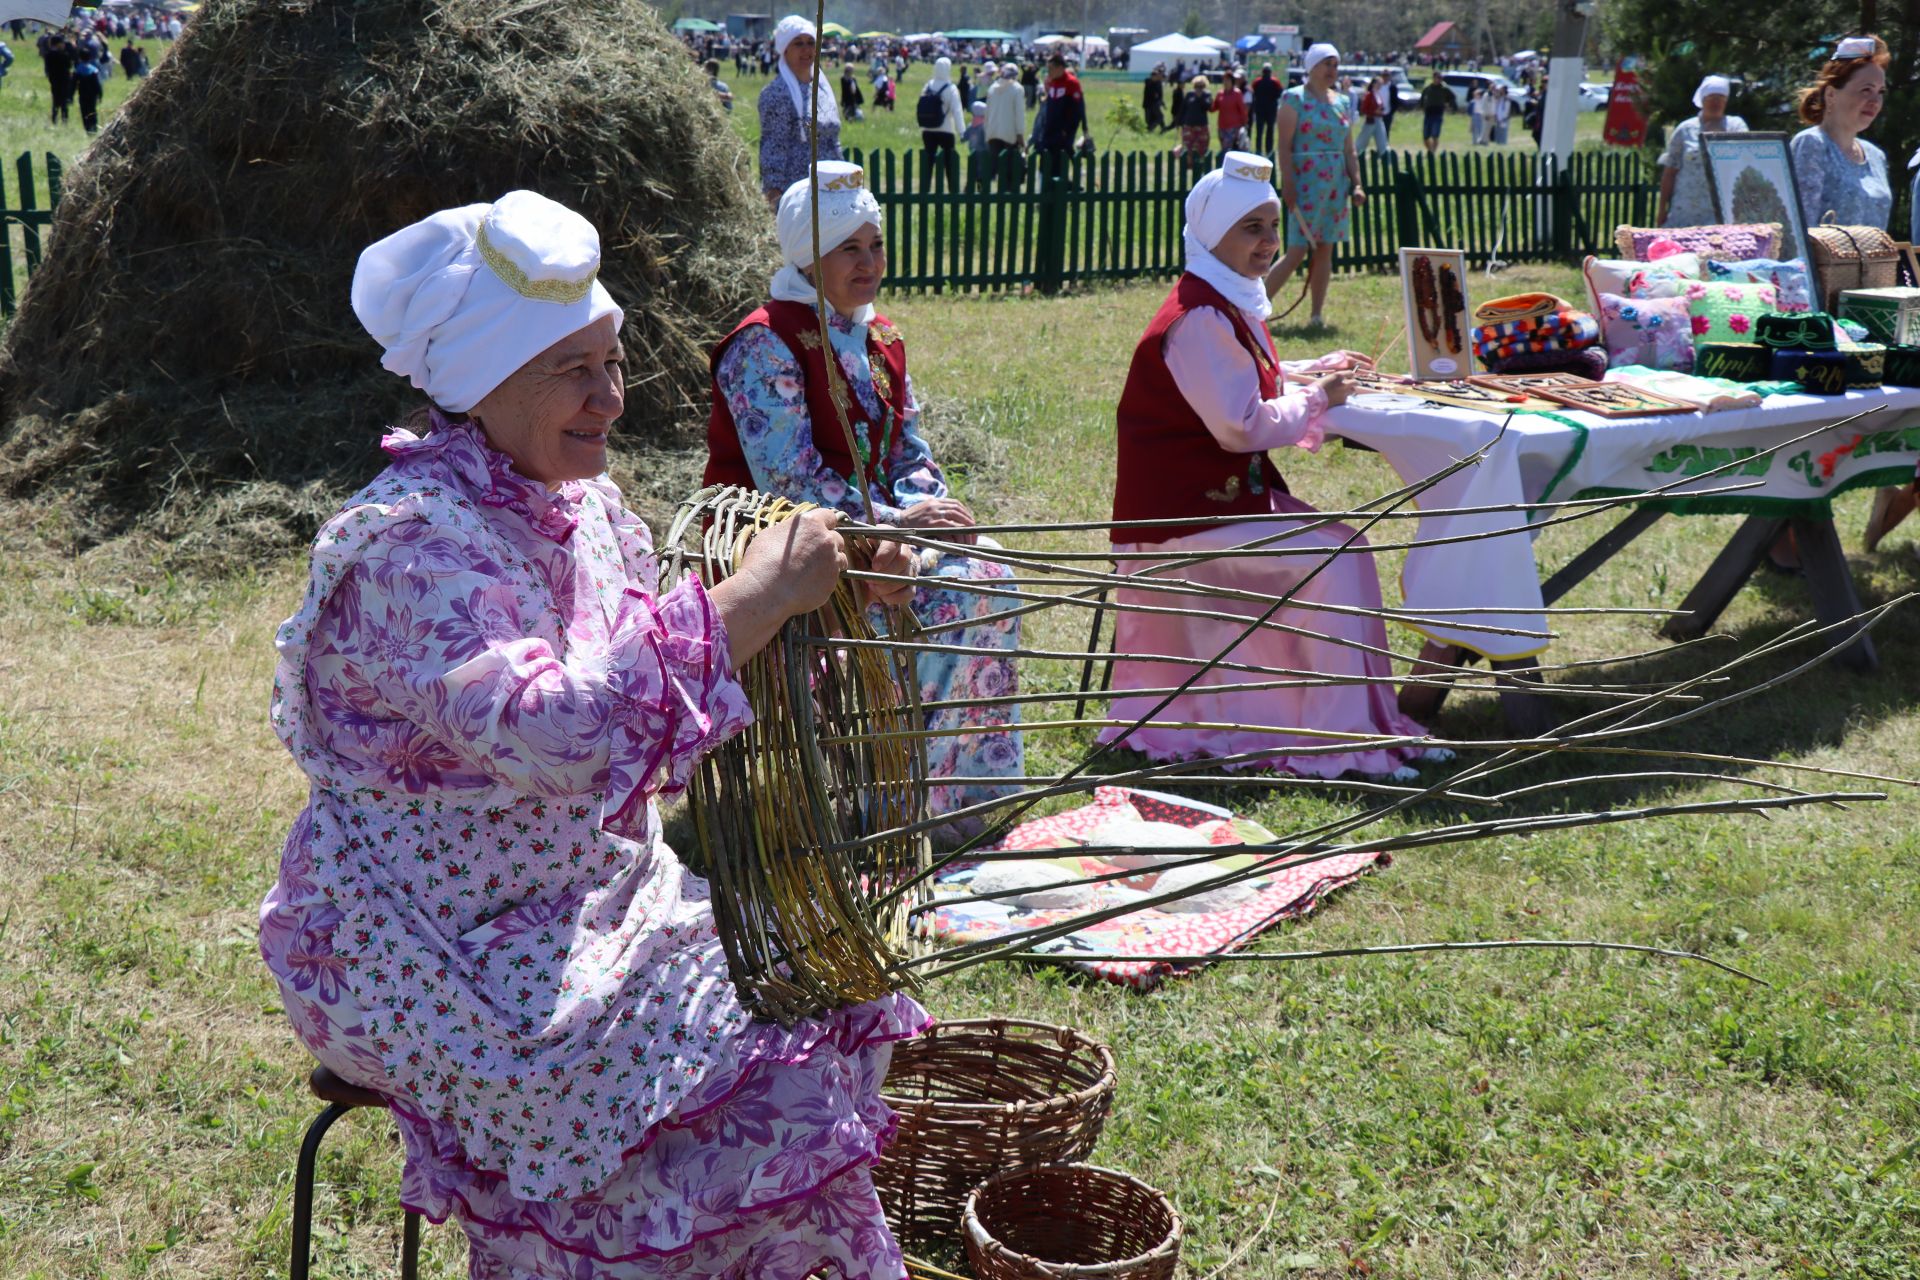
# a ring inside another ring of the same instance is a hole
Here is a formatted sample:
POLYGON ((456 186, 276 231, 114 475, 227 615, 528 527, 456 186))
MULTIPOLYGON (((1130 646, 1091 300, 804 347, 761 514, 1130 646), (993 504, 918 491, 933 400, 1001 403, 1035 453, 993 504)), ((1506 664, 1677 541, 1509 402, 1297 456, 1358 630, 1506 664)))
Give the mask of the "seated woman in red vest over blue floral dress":
MULTIPOLYGON (((852 391, 845 401, 860 453, 847 449, 841 415, 828 386, 820 349, 812 190, 801 178, 780 198, 780 251, 772 297, 739 322, 712 353, 712 418, 707 430, 707 484, 737 484, 793 501, 833 507, 866 520, 862 489, 874 499, 874 518, 920 530, 948 543, 975 543, 968 532, 973 514, 947 491, 933 451, 916 422, 920 403, 906 374, 906 342, 887 317, 874 311, 874 297, 887 274, 887 246, 879 234, 879 201, 866 190, 866 175, 847 161, 820 165, 820 274, 828 299, 833 355, 852 391)), ((981 537, 981 547, 993 547, 981 537)), ((935 785, 935 816, 975 804, 1006 787, 966 783, 1023 771, 1018 706, 968 700, 1010 697, 1020 691, 1014 660, 1020 620, 998 618, 1016 603, 985 595, 981 580, 1012 578, 993 564, 956 551, 920 551, 920 578, 912 610, 933 628, 933 645, 964 652, 918 656, 920 699, 941 702, 927 714, 929 729, 977 727, 981 731, 927 739, 927 773, 935 785), (952 585, 941 585, 941 580, 952 585), (996 731, 998 729, 998 731, 996 731)), ((883 620, 876 616, 876 624, 883 620)), ((947 835, 966 835, 977 821, 962 821, 947 835)))

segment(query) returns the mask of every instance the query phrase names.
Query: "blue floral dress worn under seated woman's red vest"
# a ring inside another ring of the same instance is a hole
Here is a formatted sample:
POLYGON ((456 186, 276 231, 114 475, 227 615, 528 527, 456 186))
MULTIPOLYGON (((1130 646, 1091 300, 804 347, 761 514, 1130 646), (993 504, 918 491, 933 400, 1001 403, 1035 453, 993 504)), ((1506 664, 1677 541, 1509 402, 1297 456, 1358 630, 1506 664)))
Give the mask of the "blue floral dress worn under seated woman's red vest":
MULTIPOLYGON (((899 524, 900 514, 914 503, 929 497, 947 497, 947 482, 933 461, 927 441, 914 430, 920 418, 920 401, 914 397, 914 380, 906 380, 906 409, 900 422, 893 422, 891 409, 874 390, 874 367, 866 353, 866 324, 854 324, 843 315, 831 319, 833 353, 839 357, 841 372, 860 405, 874 422, 883 422, 883 438, 891 439, 887 449, 883 484, 874 486, 874 518, 881 524, 899 524)), ((793 501, 820 503, 835 507, 852 518, 866 520, 866 507, 858 489, 826 464, 814 449, 814 424, 806 413, 806 374, 793 351, 766 326, 753 326, 743 332, 720 357, 714 370, 728 409, 733 413, 733 426, 739 432, 741 451, 753 470, 753 484, 762 493, 780 493, 793 501)), ((866 424, 854 424, 860 451, 872 449, 866 424)), ((981 545, 993 547, 981 537, 981 545)), ((968 699, 991 699, 1020 691, 1020 677, 1014 660, 1002 656, 1004 651, 1020 647, 1020 618, 989 618, 1018 601, 983 595, 960 587, 935 585, 939 580, 1002 580, 1012 578, 1006 564, 993 564, 966 555, 922 551, 920 576, 929 585, 914 591, 914 616, 925 628, 939 628, 962 620, 979 620, 973 626, 935 631, 929 643, 956 645, 972 652, 924 652, 918 660, 920 700, 922 702, 966 702, 968 699)), ((874 610, 877 629, 883 629, 881 610, 874 610)), ((933 783, 943 779, 987 779, 1008 777, 1025 771, 1025 754, 1020 733, 993 729, 1020 722, 1020 708, 1010 702, 985 706, 947 706, 927 712, 929 729, 956 729, 975 725, 983 733, 964 733, 954 737, 927 739, 927 775, 933 783)), ((933 814, 947 814, 966 804, 975 804, 1000 794, 1010 794, 1014 787, 991 787, 979 783, 948 781, 935 785, 929 794, 933 814)), ((991 818, 993 814, 987 814, 991 818)), ((977 821, 958 823, 960 833, 970 833, 977 821)))

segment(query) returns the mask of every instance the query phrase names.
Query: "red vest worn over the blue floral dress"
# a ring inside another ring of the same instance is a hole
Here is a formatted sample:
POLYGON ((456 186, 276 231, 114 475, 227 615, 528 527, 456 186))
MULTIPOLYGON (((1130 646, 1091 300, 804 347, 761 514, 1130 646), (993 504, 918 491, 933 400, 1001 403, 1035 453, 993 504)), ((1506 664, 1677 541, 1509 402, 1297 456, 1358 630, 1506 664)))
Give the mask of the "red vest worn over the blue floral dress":
MULTIPOLYGON (((852 480, 854 461, 847 451, 847 438, 839 428, 839 415, 833 411, 833 397, 828 390, 828 353, 824 349, 826 340, 820 336, 820 320, 806 303, 770 301, 722 338, 707 363, 712 386, 712 415, 707 418, 707 484, 756 487, 753 484, 753 470, 747 466, 747 453, 739 445, 733 411, 720 391, 720 357, 726 355, 743 330, 755 324, 774 330, 774 336, 801 361, 814 449, 828 466, 852 480)), ((866 328, 866 355, 874 365, 874 390, 893 411, 893 422, 899 424, 900 413, 906 409, 906 342, 900 340, 900 332, 883 315, 876 315, 866 328)), ((866 424, 866 438, 874 453, 866 464, 866 480, 868 484, 876 484, 885 476, 887 449, 893 438, 881 438, 879 426, 868 418, 860 397, 852 393, 851 386, 847 388, 847 420, 854 426, 856 434, 860 424, 866 424)), ((895 430, 899 428, 895 426, 895 430)))

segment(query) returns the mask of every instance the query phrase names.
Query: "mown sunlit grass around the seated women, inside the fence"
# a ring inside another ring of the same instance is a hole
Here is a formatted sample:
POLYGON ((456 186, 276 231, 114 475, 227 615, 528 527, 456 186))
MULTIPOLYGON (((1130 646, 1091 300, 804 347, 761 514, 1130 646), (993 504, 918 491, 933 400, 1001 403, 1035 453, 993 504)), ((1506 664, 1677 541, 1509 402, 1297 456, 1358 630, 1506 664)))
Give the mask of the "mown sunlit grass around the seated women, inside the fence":
MULTIPOLYGON (((1576 280, 1475 280, 1476 294, 1490 288, 1572 292, 1576 280)), ((1340 330, 1317 344, 1375 347, 1392 297, 1384 278, 1336 282, 1340 330)), ((935 441, 964 459, 983 516, 1104 514, 1117 380, 1156 303, 1150 286, 889 303, 935 399, 935 441)), ((1283 347, 1315 349, 1298 330, 1283 347)), ((1394 486, 1379 457, 1338 447, 1294 455, 1286 472, 1323 507, 1394 486)), ((1851 532, 1864 497, 1841 507, 1851 532)), ((301 566, 165 578, 136 547, 54 555, 60 532, 31 509, 12 528, 0 560, 0 1274, 284 1274, 294 1151, 315 1103, 253 913, 305 796, 265 720, 273 626, 298 603, 301 566)), ((1674 604, 1730 528, 1668 520, 1569 603, 1674 604)), ((1594 532, 1549 530, 1542 564, 1563 564, 1594 532)), ((1380 570, 1392 591, 1396 566, 1382 557, 1380 570)), ((1907 537, 1855 570, 1870 601, 1920 578, 1907 537)), ((1799 583, 1763 580, 1722 628, 1753 645, 1805 612, 1799 583)), ((1588 620, 1555 652, 1655 649, 1649 631, 1588 620)), ((1085 618, 1043 616, 1031 633, 1075 645, 1085 618)), ((1905 614, 1882 631, 1878 677, 1820 670, 1659 745, 1920 775, 1910 635, 1905 614)), ((1613 674, 1674 677, 1707 660, 1682 651, 1613 674)), ((1025 679, 1066 685, 1073 672, 1035 664, 1025 679)), ((1484 737, 1498 720, 1471 697, 1440 727, 1484 737)), ((1046 768, 1083 747, 1054 735, 1035 756, 1046 768)), ((1724 793, 1711 781, 1590 787, 1565 804, 1724 793)), ((1359 802, 1213 798, 1283 831, 1359 802)), ((1430 806, 1405 823, 1446 818, 1430 806)), ((1116 1048, 1117 1107, 1094 1155, 1173 1196, 1192 1274, 1250 1245, 1229 1274, 1908 1276, 1920 1257, 1916 867, 1905 796, 1688 818, 1407 854, 1273 935, 1288 948, 1619 938, 1701 948, 1772 986, 1528 952, 1227 963, 1150 996, 989 967, 925 1000, 943 1017, 1071 1023, 1116 1048)), ((317 1274, 392 1274, 396 1176, 380 1117, 334 1130, 317 1274)), ((430 1230, 426 1274, 463 1274, 463 1251, 457 1230, 430 1230)))

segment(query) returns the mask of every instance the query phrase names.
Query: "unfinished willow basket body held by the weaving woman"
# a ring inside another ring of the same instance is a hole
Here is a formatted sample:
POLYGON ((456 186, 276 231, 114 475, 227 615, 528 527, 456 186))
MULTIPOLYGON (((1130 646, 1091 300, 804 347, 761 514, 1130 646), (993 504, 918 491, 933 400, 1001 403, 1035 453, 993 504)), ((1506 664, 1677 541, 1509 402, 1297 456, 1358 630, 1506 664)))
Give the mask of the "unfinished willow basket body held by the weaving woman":
MULTIPOLYGON (((668 532, 660 589, 689 570, 708 585, 732 578, 758 532, 803 510, 749 489, 701 489, 668 532)), ((910 984, 899 963, 927 867, 914 829, 925 816, 925 748, 908 731, 920 723, 912 656, 793 643, 803 629, 874 639, 849 581, 828 608, 787 622, 739 672, 753 725, 714 750, 691 787, 695 869, 708 879, 733 984, 749 1009, 785 1025, 910 984), (843 741, 854 718, 887 725, 887 737, 843 741)))

